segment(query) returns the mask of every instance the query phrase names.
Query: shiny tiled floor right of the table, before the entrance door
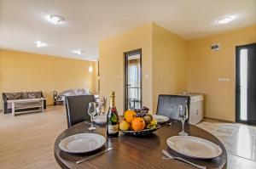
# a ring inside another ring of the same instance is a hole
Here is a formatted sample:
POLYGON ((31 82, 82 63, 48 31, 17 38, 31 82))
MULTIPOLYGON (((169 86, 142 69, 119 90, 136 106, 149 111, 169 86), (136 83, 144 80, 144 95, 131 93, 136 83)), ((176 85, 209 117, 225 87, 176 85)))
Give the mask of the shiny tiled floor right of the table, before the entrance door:
POLYGON ((197 127, 211 132, 224 144, 230 165, 236 168, 256 168, 256 127, 212 121, 202 121, 197 127))

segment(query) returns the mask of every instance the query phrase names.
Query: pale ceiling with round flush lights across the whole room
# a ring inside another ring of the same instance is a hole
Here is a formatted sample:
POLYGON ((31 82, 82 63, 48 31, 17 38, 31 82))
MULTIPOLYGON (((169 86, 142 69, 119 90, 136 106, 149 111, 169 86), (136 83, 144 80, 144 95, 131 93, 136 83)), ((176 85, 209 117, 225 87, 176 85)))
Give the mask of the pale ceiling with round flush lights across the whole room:
POLYGON ((0 0, 0 48, 95 60, 99 41, 150 21, 187 40, 206 37, 256 24, 256 0, 0 0), (65 22, 53 25, 48 14, 65 22), (216 24, 227 14, 236 20, 216 24))

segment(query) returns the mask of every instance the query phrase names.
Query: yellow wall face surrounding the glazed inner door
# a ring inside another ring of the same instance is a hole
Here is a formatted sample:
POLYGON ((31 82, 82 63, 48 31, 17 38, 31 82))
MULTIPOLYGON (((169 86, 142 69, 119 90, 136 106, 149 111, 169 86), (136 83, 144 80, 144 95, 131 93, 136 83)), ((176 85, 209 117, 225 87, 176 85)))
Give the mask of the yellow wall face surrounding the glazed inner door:
POLYGON ((152 110, 152 23, 100 42, 100 93, 109 101, 115 91, 119 114, 124 109, 124 53, 138 48, 143 51, 143 105, 152 110))

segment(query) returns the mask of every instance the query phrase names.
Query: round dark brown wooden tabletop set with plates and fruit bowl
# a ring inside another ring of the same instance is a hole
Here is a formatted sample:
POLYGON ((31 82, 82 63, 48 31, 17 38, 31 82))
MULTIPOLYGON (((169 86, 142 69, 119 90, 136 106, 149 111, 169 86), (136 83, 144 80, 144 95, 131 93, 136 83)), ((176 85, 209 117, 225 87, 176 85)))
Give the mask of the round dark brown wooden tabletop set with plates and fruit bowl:
POLYGON ((188 161, 194 162, 201 166, 207 166, 207 168, 226 168, 227 165, 227 153, 224 145, 215 138, 211 133, 202 130, 199 127, 185 124, 185 132, 188 132, 190 136, 198 138, 205 138, 215 144, 218 144, 222 149, 222 154, 211 160, 200 160, 185 157, 169 149, 166 144, 166 139, 172 136, 176 136, 177 132, 181 130, 181 124, 179 122, 174 123, 172 126, 163 125, 159 130, 152 135, 143 138, 136 138, 132 136, 126 136, 124 133, 119 132, 118 138, 108 138, 106 134, 106 127, 97 127, 94 131, 89 131, 87 128, 89 124, 80 122, 73 127, 67 128, 64 132, 61 132, 58 138, 55 140, 55 160, 61 166, 61 168, 106 168, 106 169, 154 169, 154 168, 196 168, 183 161, 177 161, 172 159, 163 159, 162 149, 166 149, 171 155, 182 157, 188 161), (106 137, 106 144, 102 149, 96 150, 89 154, 69 154, 62 151, 59 148, 59 144, 62 139, 67 138, 77 133, 98 133, 106 137), (112 147, 107 153, 102 155, 96 155, 88 161, 84 161, 80 164, 76 164, 79 161, 90 155, 94 155, 97 152, 112 147))

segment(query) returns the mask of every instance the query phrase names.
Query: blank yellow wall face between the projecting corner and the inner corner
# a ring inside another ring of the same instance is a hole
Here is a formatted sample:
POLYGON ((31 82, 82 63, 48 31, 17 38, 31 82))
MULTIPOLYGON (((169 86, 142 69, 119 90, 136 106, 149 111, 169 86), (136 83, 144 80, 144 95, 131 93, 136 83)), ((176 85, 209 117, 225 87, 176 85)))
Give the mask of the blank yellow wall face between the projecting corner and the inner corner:
POLYGON ((183 38, 153 24, 154 112, 159 94, 181 93, 186 90, 187 44, 183 38))

